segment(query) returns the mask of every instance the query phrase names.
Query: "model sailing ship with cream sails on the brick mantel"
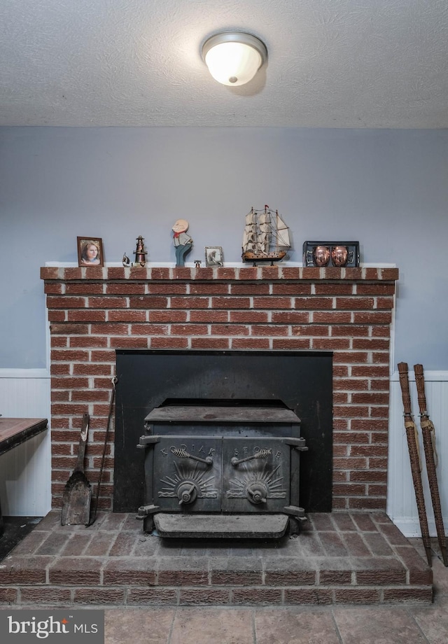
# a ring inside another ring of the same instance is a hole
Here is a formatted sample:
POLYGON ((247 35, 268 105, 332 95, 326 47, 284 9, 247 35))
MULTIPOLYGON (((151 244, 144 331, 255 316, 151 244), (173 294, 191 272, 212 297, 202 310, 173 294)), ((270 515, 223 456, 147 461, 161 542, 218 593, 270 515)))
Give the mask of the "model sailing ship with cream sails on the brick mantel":
POLYGON ((289 228, 278 211, 269 206, 254 210, 246 215, 243 237, 243 262, 274 262, 282 260, 290 245, 289 228))

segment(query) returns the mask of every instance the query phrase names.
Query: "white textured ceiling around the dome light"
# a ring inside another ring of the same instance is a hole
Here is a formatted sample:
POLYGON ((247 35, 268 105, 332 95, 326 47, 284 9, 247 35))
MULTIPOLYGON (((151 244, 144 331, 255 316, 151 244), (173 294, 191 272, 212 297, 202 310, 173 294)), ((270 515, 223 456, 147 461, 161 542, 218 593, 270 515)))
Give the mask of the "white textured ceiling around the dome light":
POLYGON ((447 0, 1 0, 0 125, 448 127, 447 0), (221 29, 268 62, 225 87, 221 29))

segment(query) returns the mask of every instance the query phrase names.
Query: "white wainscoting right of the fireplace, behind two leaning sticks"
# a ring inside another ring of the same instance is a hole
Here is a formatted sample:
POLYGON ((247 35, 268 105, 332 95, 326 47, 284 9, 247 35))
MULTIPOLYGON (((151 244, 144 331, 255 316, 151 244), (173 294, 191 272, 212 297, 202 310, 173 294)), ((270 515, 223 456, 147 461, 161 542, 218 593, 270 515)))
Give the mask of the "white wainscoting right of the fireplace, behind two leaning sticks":
MULTIPOLYGON (((435 427, 435 444, 438 455, 437 483, 440 491, 442 517, 445 533, 448 531, 448 372, 424 372, 426 384, 426 405, 430 419, 435 427)), ((409 365, 409 390, 412 401, 412 414, 419 432, 421 454, 421 477, 425 495, 426 515, 431 536, 437 536, 433 505, 428 486, 428 475, 420 428, 419 405, 415 377, 409 365)), ((398 372, 391 378, 391 410, 389 421, 389 468, 387 513, 393 523, 407 537, 421 536, 419 515, 417 513, 414 485, 409 465, 409 451, 398 372)))

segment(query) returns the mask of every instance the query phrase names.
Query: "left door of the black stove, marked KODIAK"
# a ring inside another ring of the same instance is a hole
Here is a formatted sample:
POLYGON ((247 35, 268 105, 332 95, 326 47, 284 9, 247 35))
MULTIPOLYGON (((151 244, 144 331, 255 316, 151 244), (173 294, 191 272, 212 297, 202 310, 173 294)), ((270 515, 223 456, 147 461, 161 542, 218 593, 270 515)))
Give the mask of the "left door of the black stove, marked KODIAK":
POLYGON ((221 437, 161 436, 153 459, 155 504, 171 512, 221 511, 221 437))

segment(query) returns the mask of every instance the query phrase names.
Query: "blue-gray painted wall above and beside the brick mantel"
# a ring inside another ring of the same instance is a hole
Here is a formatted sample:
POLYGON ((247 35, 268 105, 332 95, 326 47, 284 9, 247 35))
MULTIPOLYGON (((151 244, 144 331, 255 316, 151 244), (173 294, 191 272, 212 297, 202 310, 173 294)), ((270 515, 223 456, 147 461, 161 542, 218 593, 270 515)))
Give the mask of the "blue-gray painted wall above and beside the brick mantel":
POLYGON ((45 367, 39 268, 77 262, 102 237, 106 262, 174 262, 171 226, 238 262, 244 215, 264 204, 307 239, 358 239, 361 262, 400 269, 395 363, 448 369, 448 130, 0 128, 0 368, 45 367), (30 325, 31 320, 31 325, 30 325))

